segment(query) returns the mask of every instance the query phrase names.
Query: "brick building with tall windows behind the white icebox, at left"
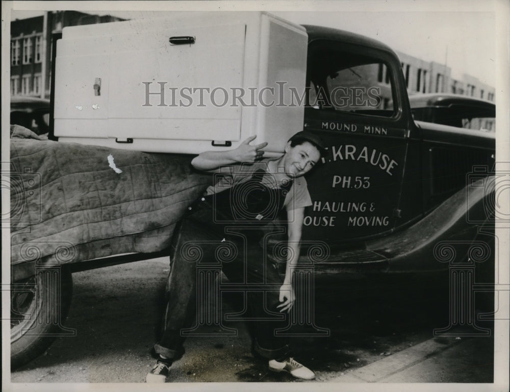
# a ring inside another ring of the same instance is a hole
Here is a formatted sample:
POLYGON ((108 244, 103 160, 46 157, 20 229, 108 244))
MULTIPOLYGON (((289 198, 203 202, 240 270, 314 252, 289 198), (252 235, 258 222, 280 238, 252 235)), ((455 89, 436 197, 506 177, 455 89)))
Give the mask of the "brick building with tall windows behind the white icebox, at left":
POLYGON ((46 11, 11 22, 11 95, 49 97, 52 35, 66 26, 124 20, 78 11, 46 11))

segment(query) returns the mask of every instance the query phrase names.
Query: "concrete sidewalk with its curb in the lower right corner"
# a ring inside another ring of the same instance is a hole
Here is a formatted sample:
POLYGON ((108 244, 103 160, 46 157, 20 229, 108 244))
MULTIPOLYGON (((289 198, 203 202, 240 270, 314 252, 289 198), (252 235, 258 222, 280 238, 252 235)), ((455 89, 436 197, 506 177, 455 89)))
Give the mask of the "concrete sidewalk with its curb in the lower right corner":
POLYGON ((436 337, 330 382, 493 382, 493 337, 436 337))

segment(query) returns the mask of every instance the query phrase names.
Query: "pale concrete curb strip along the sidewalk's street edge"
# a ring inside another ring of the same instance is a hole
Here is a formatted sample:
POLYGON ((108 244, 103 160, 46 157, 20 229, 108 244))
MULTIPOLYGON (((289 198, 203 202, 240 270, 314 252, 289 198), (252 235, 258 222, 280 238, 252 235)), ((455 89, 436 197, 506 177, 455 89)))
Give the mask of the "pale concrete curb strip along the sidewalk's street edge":
POLYGON ((399 351, 366 366, 360 367, 352 372, 336 377, 329 382, 381 382, 403 370, 414 366, 431 356, 437 355, 449 349, 465 339, 455 337, 436 337, 420 344, 399 351))

